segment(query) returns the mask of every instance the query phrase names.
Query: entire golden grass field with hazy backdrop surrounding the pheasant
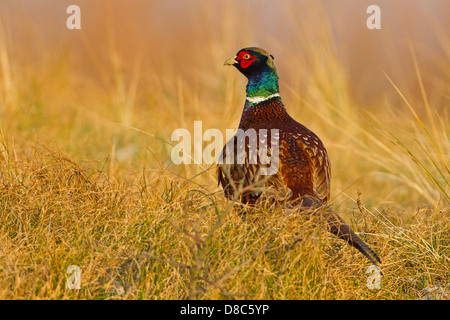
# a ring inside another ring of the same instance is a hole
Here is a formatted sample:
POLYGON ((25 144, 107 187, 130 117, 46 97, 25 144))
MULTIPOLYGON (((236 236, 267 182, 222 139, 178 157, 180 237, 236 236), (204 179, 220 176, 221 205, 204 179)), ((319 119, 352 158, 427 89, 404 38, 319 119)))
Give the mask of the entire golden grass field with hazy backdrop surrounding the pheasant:
POLYGON ((370 31, 372 3, 343 2, 2 1, 0 299, 448 299, 450 6, 378 1, 370 31), (223 61, 250 45, 327 147, 379 289, 320 219, 242 217, 214 165, 171 162, 173 130, 237 127, 223 61))

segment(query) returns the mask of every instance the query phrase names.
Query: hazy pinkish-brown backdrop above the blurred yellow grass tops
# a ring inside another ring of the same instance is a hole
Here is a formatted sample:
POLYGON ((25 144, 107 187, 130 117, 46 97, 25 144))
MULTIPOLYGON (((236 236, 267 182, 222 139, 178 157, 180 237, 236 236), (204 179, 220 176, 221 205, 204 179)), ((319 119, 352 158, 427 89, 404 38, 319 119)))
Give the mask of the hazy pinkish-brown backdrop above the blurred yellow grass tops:
MULTIPOLYGON (((302 55, 306 41, 300 35, 320 42, 320 30, 329 26, 361 100, 377 90, 362 93, 359 88, 373 85, 381 90, 386 84, 383 71, 405 81, 412 78, 409 43, 425 80, 428 74, 443 72, 448 79, 447 69, 441 67, 450 52, 448 0, 2 0, 0 18, 12 39, 10 50, 31 67, 42 59, 42 52, 67 50, 78 54, 80 68, 89 71, 95 59, 108 55, 113 41, 125 64, 140 56, 144 67, 167 64, 167 72, 183 75, 189 68, 221 67, 245 46, 264 47, 278 59, 302 55), (65 26, 70 4, 81 8, 82 30, 65 26), (381 8, 381 30, 366 28, 366 9, 372 4, 381 8), (208 64, 199 58, 206 54, 205 47, 212 55, 208 64)), ((281 74, 290 67, 277 65, 281 74)))

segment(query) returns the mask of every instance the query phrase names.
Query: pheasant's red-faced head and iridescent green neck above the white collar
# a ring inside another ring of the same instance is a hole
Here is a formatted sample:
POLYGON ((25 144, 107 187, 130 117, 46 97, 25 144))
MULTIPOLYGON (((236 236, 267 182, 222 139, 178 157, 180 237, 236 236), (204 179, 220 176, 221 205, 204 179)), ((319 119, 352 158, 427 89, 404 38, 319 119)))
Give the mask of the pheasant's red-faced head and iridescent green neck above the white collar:
POLYGON ((235 66, 248 79, 247 99, 267 98, 279 93, 274 57, 266 50, 250 47, 239 50, 225 65, 235 66))

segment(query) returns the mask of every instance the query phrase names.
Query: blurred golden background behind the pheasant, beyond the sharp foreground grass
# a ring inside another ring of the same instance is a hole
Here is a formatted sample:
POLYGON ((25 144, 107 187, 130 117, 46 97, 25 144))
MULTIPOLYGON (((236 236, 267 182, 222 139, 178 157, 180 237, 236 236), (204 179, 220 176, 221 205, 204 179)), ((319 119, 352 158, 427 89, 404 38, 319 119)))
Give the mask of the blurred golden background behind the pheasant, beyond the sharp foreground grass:
POLYGON ((124 179, 206 170, 196 179, 213 188, 208 166, 171 164, 170 136, 194 120, 237 127, 246 81, 223 62, 259 46, 290 114, 324 141, 338 202, 358 188, 372 203, 435 203, 448 188, 449 17, 448 0, 2 0, 2 136, 124 179), (81 30, 66 28, 71 4, 81 30), (366 27, 372 4, 381 30, 366 27))

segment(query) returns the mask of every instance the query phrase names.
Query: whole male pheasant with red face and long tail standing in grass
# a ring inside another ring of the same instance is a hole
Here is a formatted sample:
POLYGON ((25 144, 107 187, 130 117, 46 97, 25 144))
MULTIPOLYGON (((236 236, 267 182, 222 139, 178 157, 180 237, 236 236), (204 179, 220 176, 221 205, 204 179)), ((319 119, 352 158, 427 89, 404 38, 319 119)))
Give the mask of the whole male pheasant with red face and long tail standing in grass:
POLYGON ((225 196, 253 206, 264 190, 275 190, 274 196, 300 205, 303 210, 320 208, 331 233, 373 264, 381 263, 377 254, 326 205, 331 178, 327 151, 311 130, 286 111, 274 57, 250 47, 241 49, 225 65, 236 67, 248 79, 239 129, 224 146, 217 166, 225 196), (255 149, 256 145, 260 149, 255 149), (264 152, 261 146, 266 146, 264 152))

